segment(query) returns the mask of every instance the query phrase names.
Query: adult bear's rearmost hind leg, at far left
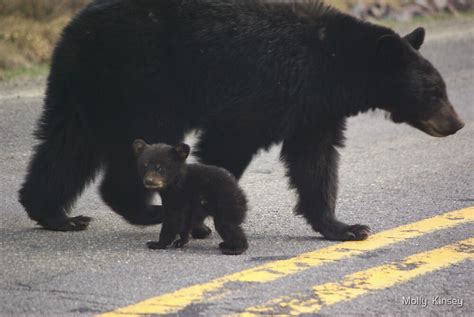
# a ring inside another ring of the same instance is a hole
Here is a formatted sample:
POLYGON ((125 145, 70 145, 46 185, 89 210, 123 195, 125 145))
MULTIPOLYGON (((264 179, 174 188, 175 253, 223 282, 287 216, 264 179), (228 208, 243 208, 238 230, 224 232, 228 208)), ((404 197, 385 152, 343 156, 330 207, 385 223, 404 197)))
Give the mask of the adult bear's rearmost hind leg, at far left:
POLYGON ((96 149, 73 130, 71 123, 37 146, 19 191, 28 216, 48 230, 84 230, 91 220, 66 214, 100 165, 96 149))

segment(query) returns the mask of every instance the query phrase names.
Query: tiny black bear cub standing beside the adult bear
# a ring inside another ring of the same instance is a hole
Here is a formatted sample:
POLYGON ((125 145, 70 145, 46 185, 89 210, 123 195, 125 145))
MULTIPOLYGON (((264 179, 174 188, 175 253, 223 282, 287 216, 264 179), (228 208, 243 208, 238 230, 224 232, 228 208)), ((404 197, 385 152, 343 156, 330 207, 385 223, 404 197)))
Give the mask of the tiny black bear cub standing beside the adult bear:
POLYGON ((160 240, 147 243, 150 249, 165 249, 171 244, 183 247, 191 229, 207 216, 224 242, 224 254, 241 254, 248 248, 241 228, 247 212, 247 199, 236 179, 227 170, 204 164, 187 164, 190 147, 133 142, 138 173, 143 185, 160 194, 164 215, 160 240), (176 236, 179 234, 179 240, 176 236))

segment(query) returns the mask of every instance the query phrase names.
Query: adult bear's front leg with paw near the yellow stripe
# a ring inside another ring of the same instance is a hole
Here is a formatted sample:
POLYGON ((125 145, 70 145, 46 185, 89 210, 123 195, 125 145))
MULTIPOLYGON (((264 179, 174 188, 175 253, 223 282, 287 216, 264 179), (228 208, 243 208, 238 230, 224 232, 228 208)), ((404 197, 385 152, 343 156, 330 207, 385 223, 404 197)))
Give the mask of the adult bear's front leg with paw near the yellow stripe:
POLYGON ((339 161, 335 147, 342 145, 342 133, 343 123, 332 129, 299 131, 283 142, 281 158, 299 195, 297 214, 328 240, 365 240, 369 227, 347 225, 335 215, 339 161))

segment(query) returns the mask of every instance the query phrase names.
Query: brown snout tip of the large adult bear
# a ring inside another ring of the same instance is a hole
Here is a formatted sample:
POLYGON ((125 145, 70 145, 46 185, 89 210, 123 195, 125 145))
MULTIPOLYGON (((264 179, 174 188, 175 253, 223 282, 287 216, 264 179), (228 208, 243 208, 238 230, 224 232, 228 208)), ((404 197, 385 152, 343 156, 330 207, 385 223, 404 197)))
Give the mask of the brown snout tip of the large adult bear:
POLYGON ((422 121, 422 130, 431 136, 446 137, 464 127, 464 121, 449 103, 443 104, 431 118, 422 121))

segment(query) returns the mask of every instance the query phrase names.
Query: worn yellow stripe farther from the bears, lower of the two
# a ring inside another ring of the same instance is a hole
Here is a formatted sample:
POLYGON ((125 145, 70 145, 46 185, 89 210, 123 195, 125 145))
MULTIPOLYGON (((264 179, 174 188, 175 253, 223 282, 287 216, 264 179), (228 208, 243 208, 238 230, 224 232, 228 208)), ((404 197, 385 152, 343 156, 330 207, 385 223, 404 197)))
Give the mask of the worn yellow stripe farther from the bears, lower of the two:
POLYGON ((262 306, 247 308, 243 313, 233 316, 313 314, 324 307, 404 283, 468 259, 474 259, 474 238, 418 253, 400 262, 353 273, 341 281, 314 286, 309 295, 294 294, 282 297, 262 306))

